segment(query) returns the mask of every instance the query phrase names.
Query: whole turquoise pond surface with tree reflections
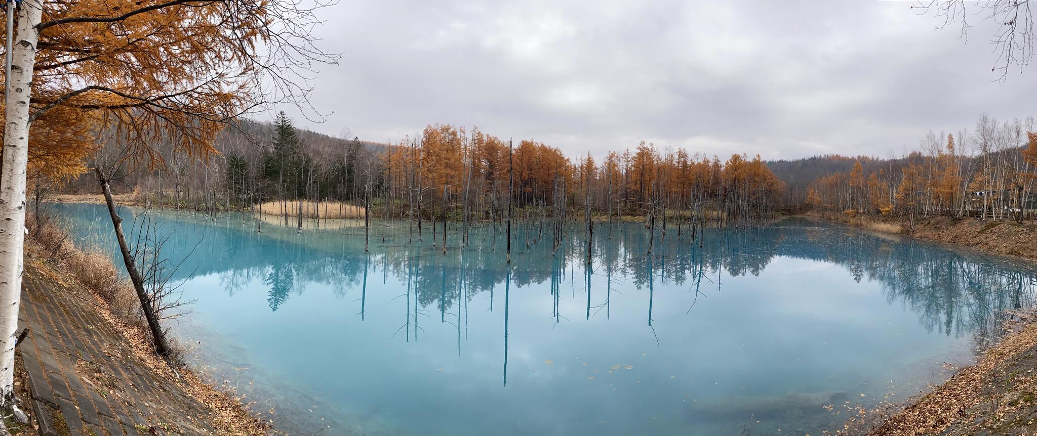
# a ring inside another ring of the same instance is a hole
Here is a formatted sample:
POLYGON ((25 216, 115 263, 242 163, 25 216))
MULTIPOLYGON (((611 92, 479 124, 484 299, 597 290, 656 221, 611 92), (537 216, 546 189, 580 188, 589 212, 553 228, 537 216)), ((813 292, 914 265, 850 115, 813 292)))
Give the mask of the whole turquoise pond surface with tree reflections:
MULTIPOLYGON (((103 207, 52 208, 114 254, 103 207)), ((290 434, 820 434, 943 381, 1037 290, 1026 264, 802 220, 701 248, 670 227, 651 254, 599 224, 590 268, 579 224, 557 251, 522 224, 510 269, 488 225, 463 249, 451 224, 444 255, 379 222, 365 255, 362 228, 152 220, 195 300, 172 330, 290 434)))

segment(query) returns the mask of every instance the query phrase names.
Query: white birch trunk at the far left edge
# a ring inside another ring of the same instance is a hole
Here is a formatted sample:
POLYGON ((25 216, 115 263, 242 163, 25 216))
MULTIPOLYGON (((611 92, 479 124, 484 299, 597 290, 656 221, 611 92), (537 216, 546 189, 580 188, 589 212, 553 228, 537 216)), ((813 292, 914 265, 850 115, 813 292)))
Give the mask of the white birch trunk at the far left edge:
POLYGON ((22 294, 25 242, 25 176, 29 164, 29 91, 36 59, 40 0, 25 0, 18 10, 10 100, 4 118, 3 174, 0 176, 0 404, 12 406, 18 303, 22 294))

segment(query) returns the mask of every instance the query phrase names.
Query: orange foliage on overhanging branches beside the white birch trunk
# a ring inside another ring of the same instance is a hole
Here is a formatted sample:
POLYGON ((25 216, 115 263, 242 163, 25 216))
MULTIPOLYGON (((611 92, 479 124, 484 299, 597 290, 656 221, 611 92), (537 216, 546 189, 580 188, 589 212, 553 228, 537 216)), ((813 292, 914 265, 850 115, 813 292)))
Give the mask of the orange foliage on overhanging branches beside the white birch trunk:
POLYGON ((275 64, 257 47, 290 57, 281 50, 287 34, 272 27, 290 19, 287 9, 264 1, 43 5, 30 101, 35 173, 82 172, 99 138, 124 147, 131 164, 161 165, 159 144, 203 158, 225 121, 262 103, 260 76, 275 64))

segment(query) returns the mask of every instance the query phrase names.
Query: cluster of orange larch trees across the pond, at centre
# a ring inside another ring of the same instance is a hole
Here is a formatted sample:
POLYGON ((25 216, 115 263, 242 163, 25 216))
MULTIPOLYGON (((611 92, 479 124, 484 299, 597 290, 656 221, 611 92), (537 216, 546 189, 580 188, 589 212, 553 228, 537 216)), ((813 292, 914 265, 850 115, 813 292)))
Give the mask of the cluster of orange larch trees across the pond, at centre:
MULTIPOLYGON (((450 125, 428 125, 420 140, 389 146, 382 162, 388 190, 398 198, 416 186, 419 176, 421 187, 433 198, 442 196, 444 184, 451 196, 471 190, 470 195, 507 197, 508 144, 478 128, 466 134, 450 125)), ((615 209, 622 203, 628 211, 649 204, 679 208, 714 203, 738 213, 769 209, 785 190, 759 155, 749 159, 734 154, 722 163, 684 149, 661 154, 645 142, 634 154, 610 151, 598 165, 590 153, 573 164, 556 147, 522 140, 514 145, 511 164, 518 207, 551 205, 560 187, 567 198, 580 198, 577 204, 584 196, 611 198, 615 209)))

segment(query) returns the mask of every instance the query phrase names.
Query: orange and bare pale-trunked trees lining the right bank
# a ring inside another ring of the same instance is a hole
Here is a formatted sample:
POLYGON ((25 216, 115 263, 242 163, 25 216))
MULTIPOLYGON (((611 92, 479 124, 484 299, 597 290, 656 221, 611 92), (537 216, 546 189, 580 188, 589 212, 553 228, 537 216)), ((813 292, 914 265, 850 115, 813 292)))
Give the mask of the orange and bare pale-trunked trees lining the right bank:
POLYGON ((817 156, 768 163, 785 200, 848 214, 1034 219, 1037 120, 983 114, 972 132, 933 134, 900 158, 817 156))

